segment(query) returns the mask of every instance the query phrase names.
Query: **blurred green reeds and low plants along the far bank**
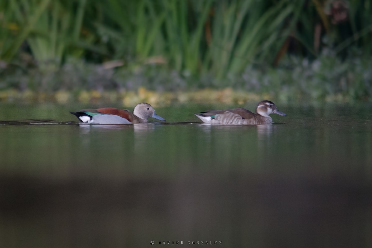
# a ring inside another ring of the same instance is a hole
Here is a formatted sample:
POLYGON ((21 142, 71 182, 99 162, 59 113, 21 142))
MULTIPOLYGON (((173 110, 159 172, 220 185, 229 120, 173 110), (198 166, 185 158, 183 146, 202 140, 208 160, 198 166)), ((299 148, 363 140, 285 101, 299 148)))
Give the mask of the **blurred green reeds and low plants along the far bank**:
POLYGON ((371 55, 369 0, 0 1, 7 94, 229 87, 371 100, 371 55))

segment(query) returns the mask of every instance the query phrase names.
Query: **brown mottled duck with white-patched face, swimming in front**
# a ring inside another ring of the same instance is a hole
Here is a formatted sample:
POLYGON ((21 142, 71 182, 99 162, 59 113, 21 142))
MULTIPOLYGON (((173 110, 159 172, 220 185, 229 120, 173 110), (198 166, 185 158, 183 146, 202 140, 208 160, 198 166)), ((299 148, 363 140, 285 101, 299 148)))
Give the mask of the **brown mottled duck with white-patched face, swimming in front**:
POLYGON ((275 113, 286 116, 285 113, 280 112, 273 102, 264 100, 257 104, 256 113, 250 112, 247 109, 227 109, 227 110, 210 110, 194 114, 199 117, 204 123, 220 124, 220 125, 259 125, 272 123, 273 119, 269 116, 275 113))

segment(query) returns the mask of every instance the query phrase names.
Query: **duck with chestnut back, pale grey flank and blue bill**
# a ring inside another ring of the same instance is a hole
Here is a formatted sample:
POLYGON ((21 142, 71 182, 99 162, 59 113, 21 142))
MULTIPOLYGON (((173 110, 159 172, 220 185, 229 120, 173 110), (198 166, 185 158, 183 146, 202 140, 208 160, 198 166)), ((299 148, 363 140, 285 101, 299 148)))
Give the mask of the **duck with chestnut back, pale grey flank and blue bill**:
POLYGON ((78 112, 70 112, 81 122, 92 124, 136 124, 145 123, 147 118, 158 120, 165 119, 155 113, 154 108, 148 103, 138 103, 131 113, 127 109, 115 109, 111 107, 101 109, 83 109, 78 112))

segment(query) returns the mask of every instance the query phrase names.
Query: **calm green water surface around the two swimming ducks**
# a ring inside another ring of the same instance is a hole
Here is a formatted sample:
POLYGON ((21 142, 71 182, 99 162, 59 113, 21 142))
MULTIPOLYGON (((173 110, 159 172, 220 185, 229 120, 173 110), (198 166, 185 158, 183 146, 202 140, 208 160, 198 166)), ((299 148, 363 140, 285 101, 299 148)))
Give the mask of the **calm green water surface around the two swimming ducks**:
POLYGON ((192 115, 222 105, 77 125, 99 106, 0 103, 0 247, 371 247, 372 105, 277 106, 273 125, 192 115))

